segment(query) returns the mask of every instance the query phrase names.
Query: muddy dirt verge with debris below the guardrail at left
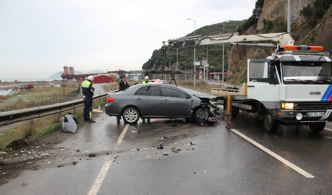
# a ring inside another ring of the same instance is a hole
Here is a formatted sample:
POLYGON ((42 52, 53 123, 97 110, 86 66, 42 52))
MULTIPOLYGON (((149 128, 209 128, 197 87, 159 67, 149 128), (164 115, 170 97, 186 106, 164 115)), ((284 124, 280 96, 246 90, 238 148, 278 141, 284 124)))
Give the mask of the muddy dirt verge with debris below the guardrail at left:
MULTIPOLYGON (((77 130, 81 129, 84 124, 82 120, 79 120, 77 130)), ((79 132, 77 131, 76 133, 79 132)), ((0 154, 0 185, 17 177, 23 170, 38 170, 46 167, 61 167, 75 164, 75 160, 72 158, 68 158, 68 161, 58 162, 57 159, 61 155, 61 148, 55 147, 56 144, 73 135, 75 134, 63 133, 61 128, 59 128, 34 142, 15 141, 6 154, 0 154)))

